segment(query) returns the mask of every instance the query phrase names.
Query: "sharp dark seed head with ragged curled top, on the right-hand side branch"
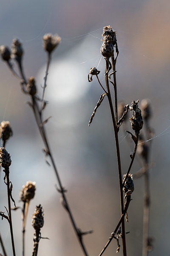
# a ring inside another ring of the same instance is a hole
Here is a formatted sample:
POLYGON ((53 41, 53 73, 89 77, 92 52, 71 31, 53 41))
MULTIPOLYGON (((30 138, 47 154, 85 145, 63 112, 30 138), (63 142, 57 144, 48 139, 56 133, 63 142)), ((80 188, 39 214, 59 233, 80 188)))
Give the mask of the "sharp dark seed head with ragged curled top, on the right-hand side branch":
POLYGON ((139 100, 133 101, 132 105, 129 107, 130 110, 133 110, 133 116, 130 118, 131 127, 135 133, 139 132, 143 127, 143 119, 141 115, 141 110, 138 108, 139 100))

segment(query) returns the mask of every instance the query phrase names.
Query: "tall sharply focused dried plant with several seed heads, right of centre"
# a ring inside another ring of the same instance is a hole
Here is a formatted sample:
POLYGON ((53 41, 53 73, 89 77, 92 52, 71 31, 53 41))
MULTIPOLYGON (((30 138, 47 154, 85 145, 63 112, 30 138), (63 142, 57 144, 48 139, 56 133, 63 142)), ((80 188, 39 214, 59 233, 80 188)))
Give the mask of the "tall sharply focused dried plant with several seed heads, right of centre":
MULTIPOLYGON (((121 237, 122 238, 122 247, 123 247, 123 255, 126 256, 126 241, 125 241, 125 215, 127 214, 127 208, 130 203, 130 196, 131 193, 134 190, 134 185, 133 185, 133 179, 132 175, 130 175, 130 169, 132 167, 135 155, 136 155, 136 150, 137 150, 137 145, 138 145, 138 140, 139 140, 139 133, 140 130, 143 127, 143 120, 142 120, 142 115, 141 115, 141 110, 138 107, 139 101, 133 101, 132 105, 126 105, 125 108, 126 110, 122 113, 121 118, 118 120, 118 102, 117 102, 117 85, 116 85, 116 60, 119 55, 119 50, 118 50, 118 44, 117 44, 117 39, 116 39, 116 32, 113 31, 111 26, 105 26, 103 29, 103 43, 102 47, 100 49, 100 52, 102 56, 105 59, 105 87, 104 88, 99 81, 99 73, 100 71, 96 69, 96 67, 93 67, 90 69, 90 72, 88 74, 88 81, 92 81, 92 77, 96 76, 100 86, 102 87, 102 90, 104 90, 104 93, 100 96, 99 102, 97 102, 97 105, 94 109, 94 112, 91 116, 91 119, 89 121, 89 125, 91 124, 94 115, 96 113, 97 108, 101 105, 103 99, 105 96, 108 98, 109 106, 110 106, 110 111, 111 111, 111 118, 113 122, 113 128, 114 128, 114 135, 115 135, 115 142, 116 142, 116 154, 117 154, 117 165, 118 165, 118 172, 119 172, 119 189, 120 189, 120 205, 121 205, 121 218, 120 221, 112 233, 111 238, 109 238, 108 243, 100 253, 100 256, 102 253, 104 253, 105 249, 108 247, 110 244, 111 240, 115 238, 115 234, 118 234, 118 229, 119 229, 119 235, 116 238, 117 241, 121 237), (116 50, 116 58, 114 57, 114 51, 116 50), (109 73, 111 71, 111 73, 109 73), (91 76, 90 76, 91 75, 91 76), (113 81, 111 81, 111 78, 113 77, 113 81), (115 108, 113 109, 113 102, 111 99, 111 90, 110 90, 110 85, 113 86, 114 88, 114 106, 115 108), (119 151, 119 140, 118 140, 118 132, 119 128, 122 125, 123 121, 125 120, 125 117, 127 115, 128 111, 133 111, 133 116, 130 118, 131 122, 131 128, 135 132, 135 135, 133 135, 130 131, 127 131, 129 133, 135 143, 134 151, 133 154, 130 154, 131 162, 130 166, 127 169, 126 175, 124 175, 124 179, 122 177, 122 168, 121 168, 121 160, 120 160, 120 151, 119 151), (124 196, 123 192, 125 192, 125 199, 126 203, 124 206, 124 196), (122 224, 122 229, 120 229, 120 224, 122 224), (120 231, 122 230, 122 231, 120 231)), ((127 219, 127 217, 126 217, 127 219)), ((120 249, 120 245, 118 242, 118 249, 117 252, 120 249)))

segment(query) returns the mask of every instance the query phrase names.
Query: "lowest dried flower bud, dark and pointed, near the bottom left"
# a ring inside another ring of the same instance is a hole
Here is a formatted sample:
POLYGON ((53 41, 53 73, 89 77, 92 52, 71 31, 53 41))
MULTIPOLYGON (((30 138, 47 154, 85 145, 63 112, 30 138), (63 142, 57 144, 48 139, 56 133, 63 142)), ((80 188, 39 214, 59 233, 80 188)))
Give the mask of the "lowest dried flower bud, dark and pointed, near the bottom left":
POLYGON ((35 230, 40 229, 44 225, 44 211, 40 204, 35 208, 35 212, 34 212, 34 215, 32 216, 31 224, 35 230))

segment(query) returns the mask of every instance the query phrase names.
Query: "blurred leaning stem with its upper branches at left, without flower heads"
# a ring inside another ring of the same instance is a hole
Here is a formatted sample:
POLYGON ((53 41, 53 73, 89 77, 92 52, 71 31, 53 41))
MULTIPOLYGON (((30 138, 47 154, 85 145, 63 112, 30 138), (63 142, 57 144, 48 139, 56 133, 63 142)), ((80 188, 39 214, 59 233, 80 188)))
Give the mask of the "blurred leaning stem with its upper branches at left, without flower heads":
MULTIPOLYGON (((19 64, 19 69, 20 69, 21 77, 24 80, 24 83, 26 85, 27 81, 26 81, 26 78, 25 78, 24 73, 23 73, 22 63, 21 63, 21 61, 18 61, 18 60, 17 60, 17 62, 19 64)), ((44 83, 44 88, 43 88, 44 90, 43 90, 43 96, 42 97, 44 97, 49 64, 50 64, 50 55, 48 55, 46 75, 45 75, 45 83, 44 83)), ((47 149, 48 155, 49 155, 49 157, 51 159, 51 163, 52 163, 52 166, 54 168, 54 172, 55 172, 55 174, 57 176, 60 192, 62 194, 63 200, 65 201, 65 204, 67 205, 68 215, 69 215, 69 217, 71 219, 71 224, 72 224, 72 226, 74 228, 74 231, 75 231, 75 233, 77 235, 77 238, 79 240, 79 244, 82 247, 82 251, 84 252, 85 256, 88 256, 87 250, 85 249, 85 245, 84 245, 84 243, 82 241, 82 233, 79 232, 79 229, 77 228, 77 225, 76 225, 76 223, 74 221, 73 215, 71 213, 71 209, 70 209, 70 207, 68 205, 68 201, 67 201, 66 196, 65 196, 65 190, 63 189, 63 186, 62 186, 62 183, 61 183, 58 171, 57 171, 57 167, 56 167, 56 164, 54 162, 54 158, 53 158, 52 153, 51 153, 51 149, 50 149, 50 147, 48 145, 48 140, 47 140, 47 136, 46 136, 46 133, 45 133, 45 128, 42 125, 42 111, 39 109, 39 106, 37 104, 36 98, 34 96, 31 96, 31 99, 32 99, 32 105, 31 106, 32 106, 32 110, 33 110, 36 122, 37 122, 37 126, 39 128, 40 135, 41 135, 42 140, 44 142, 45 148, 47 149)))

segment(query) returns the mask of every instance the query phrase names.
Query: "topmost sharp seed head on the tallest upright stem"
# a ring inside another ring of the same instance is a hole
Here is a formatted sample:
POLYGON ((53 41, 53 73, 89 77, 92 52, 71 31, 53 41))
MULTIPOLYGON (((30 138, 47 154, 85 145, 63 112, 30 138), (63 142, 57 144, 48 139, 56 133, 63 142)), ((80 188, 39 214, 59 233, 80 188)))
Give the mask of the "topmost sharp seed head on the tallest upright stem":
POLYGON ((111 26, 105 26, 103 29, 103 44, 100 49, 101 54, 104 57, 110 58, 114 52, 114 45, 117 42, 116 32, 113 31, 111 26))

